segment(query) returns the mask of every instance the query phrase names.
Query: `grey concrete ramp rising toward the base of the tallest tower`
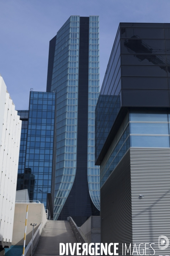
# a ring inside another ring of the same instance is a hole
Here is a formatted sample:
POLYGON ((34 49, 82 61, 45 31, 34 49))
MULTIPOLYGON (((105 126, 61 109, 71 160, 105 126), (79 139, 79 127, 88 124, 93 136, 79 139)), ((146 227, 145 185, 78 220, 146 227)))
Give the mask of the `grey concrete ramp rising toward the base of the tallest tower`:
MULTIPOLYGON (((77 243, 68 221, 47 221, 37 244, 34 256, 59 255, 59 243, 77 243)), ((69 252, 69 255, 70 252, 69 252)), ((76 255, 76 250, 75 250, 76 255)))

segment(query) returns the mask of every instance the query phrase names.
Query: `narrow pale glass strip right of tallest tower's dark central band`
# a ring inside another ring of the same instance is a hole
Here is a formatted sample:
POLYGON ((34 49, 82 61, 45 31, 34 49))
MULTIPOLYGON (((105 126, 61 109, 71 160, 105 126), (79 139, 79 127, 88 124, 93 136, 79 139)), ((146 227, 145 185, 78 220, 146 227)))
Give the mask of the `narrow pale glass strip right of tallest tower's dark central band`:
POLYGON ((95 166, 95 108, 99 97, 99 16, 89 18, 88 187, 100 210, 100 168, 95 166))

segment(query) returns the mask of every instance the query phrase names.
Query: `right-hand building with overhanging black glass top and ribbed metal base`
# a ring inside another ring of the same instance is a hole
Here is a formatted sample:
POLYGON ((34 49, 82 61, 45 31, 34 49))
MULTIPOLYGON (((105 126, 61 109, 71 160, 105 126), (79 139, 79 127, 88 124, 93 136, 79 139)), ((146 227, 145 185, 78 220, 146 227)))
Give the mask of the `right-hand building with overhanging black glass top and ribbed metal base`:
POLYGON ((170 254, 169 54, 170 23, 120 23, 96 106, 101 242, 155 255, 170 254))

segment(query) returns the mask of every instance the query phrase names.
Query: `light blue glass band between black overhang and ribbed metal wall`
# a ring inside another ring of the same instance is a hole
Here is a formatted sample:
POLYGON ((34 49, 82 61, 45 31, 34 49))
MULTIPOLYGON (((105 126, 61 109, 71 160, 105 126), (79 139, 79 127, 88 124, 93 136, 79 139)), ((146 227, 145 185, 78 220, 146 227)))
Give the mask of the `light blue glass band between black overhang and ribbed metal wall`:
POLYGON ((100 165, 100 186, 129 148, 170 148, 169 111, 129 111, 100 165))

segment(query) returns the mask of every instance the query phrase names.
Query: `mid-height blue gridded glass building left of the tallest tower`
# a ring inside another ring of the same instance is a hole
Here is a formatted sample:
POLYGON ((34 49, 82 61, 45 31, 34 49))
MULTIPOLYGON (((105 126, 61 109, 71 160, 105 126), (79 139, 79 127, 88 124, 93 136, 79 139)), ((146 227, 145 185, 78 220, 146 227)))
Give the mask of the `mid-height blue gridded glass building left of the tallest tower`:
POLYGON ((23 122, 17 190, 28 189, 30 200, 42 202, 45 208, 47 194, 54 194, 51 180, 56 157, 55 107, 56 93, 31 91, 29 111, 18 111, 23 122))

